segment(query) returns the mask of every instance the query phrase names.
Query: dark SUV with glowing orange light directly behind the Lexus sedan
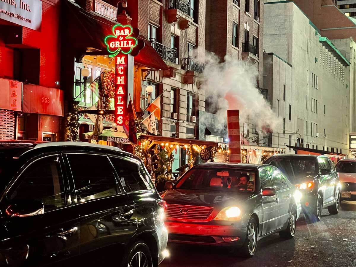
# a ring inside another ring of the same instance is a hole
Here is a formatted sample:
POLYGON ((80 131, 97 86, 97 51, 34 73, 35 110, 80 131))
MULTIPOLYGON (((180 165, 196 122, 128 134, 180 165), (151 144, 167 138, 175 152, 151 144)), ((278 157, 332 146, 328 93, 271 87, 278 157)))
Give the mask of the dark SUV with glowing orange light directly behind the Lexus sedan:
POLYGON ((300 203, 309 217, 319 221, 326 207, 330 214, 339 213, 341 184, 334 163, 327 156, 276 155, 265 164, 279 168, 297 185, 303 194, 300 203))

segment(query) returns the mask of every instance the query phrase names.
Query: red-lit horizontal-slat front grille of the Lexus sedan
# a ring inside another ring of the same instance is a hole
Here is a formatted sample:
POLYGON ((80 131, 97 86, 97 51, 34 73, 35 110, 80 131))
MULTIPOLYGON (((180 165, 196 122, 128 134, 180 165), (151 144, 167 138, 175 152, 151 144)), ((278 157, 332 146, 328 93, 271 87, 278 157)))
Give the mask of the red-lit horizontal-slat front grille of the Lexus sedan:
POLYGON ((168 204, 166 218, 179 221, 204 221, 208 219, 213 209, 205 206, 168 204))

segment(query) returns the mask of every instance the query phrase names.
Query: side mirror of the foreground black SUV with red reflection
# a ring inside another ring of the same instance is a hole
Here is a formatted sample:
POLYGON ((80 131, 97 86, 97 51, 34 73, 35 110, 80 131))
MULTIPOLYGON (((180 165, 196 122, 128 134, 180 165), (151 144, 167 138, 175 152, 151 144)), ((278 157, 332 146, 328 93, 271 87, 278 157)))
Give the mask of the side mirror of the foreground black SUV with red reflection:
POLYGON ((45 213, 45 207, 40 200, 17 200, 7 206, 6 214, 10 217, 31 217, 45 213))

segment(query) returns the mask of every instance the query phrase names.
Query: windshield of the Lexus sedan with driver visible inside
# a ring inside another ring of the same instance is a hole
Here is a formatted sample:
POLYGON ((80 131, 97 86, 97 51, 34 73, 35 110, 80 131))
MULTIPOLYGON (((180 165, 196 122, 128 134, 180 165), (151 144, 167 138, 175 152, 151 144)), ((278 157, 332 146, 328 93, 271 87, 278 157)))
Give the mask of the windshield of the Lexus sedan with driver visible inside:
POLYGON ((178 181, 176 188, 252 193, 255 180, 256 173, 247 170, 193 168, 178 181))

